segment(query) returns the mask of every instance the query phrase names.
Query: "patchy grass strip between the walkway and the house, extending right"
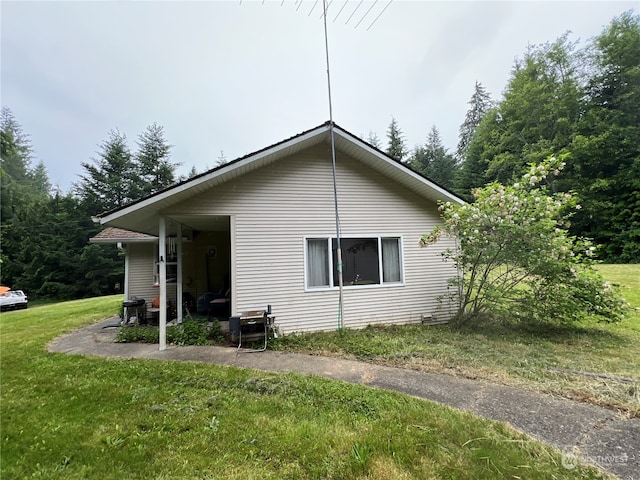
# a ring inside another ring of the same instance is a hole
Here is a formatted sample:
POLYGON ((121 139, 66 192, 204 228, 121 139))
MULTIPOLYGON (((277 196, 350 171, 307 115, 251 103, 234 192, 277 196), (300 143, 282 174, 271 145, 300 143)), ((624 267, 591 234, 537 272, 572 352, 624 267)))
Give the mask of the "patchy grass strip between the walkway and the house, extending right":
POLYGON ((618 324, 585 322, 578 327, 544 329, 367 328, 342 335, 289 336, 277 347, 483 378, 640 416, 640 265, 599 268, 607 280, 620 285, 632 306, 618 324))

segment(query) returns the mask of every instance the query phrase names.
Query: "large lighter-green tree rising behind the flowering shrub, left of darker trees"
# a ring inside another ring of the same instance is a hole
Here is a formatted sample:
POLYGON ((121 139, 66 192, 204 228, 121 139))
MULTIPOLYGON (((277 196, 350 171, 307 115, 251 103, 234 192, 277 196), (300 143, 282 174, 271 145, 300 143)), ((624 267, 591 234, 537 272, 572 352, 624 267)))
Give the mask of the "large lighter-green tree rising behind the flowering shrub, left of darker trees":
POLYGON ((508 183, 531 163, 568 151, 581 112, 581 58, 563 35, 531 47, 515 62, 503 99, 485 114, 467 148, 458 185, 464 194, 483 185, 508 183), (480 137, 480 138, 479 138, 480 137), (484 174, 480 174, 485 169, 484 174), (466 171, 465 171, 466 170, 466 171))

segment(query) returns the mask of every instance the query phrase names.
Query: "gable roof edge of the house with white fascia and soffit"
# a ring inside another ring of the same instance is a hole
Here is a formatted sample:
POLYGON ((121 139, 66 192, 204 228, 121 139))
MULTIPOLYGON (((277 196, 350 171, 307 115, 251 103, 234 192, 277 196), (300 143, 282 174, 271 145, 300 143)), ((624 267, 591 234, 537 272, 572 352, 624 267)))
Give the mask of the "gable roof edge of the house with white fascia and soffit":
MULTIPOLYGON (((425 199, 433 202, 464 203, 462 199, 446 188, 437 185, 402 162, 391 158, 386 153, 335 123, 333 126, 336 151, 341 151, 355 158, 425 199)), ((315 145, 329 145, 330 143, 331 124, 330 122, 325 122, 315 128, 196 175, 128 205, 97 215, 94 220, 102 225, 108 224, 123 229, 155 234, 158 229, 160 212, 171 205, 210 190, 215 186, 232 181, 281 158, 295 155, 315 145)))

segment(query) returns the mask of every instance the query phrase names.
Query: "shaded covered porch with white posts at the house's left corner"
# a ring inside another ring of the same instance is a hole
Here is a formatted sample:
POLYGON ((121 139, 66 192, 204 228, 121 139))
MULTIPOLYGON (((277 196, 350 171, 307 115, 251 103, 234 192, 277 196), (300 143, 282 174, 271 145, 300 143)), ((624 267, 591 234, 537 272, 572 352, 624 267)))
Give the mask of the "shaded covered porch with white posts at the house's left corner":
MULTIPOLYGON (((124 253, 123 304, 143 303, 133 310, 136 320, 158 325, 164 350, 168 322, 182 323, 189 313, 226 319, 233 312, 232 218, 158 215, 156 220, 145 233, 107 228, 90 242, 116 244, 124 253)), ((125 307, 124 317, 129 316, 125 307)))

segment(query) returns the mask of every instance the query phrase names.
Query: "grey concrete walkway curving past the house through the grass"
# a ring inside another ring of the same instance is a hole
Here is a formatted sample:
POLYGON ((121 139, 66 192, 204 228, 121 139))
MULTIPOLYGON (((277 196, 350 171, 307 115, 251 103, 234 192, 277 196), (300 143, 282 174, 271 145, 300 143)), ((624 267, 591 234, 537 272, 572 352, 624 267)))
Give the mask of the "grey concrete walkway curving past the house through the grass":
POLYGON ((175 347, 115 343, 117 329, 105 320, 66 334, 49 351, 116 358, 147 358, 232 365, 270 372, 298 372, 370 387, 395 390, 479 416, 510 423, 516 429, 563 452, 563 464, 576 458, 623 480, 640 480, 640 419, 628 419, 595 405, 448 375, 383 367, 336 358, 286 352, 236 354, 228 347, 175 347))

